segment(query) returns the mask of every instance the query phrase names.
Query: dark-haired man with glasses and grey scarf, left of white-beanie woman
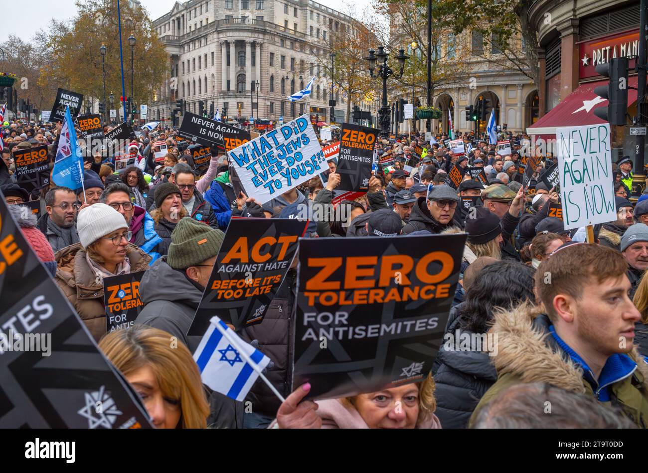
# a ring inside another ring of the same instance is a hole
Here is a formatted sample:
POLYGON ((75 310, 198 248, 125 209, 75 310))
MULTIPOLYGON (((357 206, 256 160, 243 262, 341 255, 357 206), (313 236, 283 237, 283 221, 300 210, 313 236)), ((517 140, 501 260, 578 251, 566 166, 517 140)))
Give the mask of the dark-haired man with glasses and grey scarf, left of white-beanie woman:
POLYGON ((76 233, 76 212, 80 205, 72 189, 56 186, 45 194, 45 210, 38 220, 38 229, 47 237, 54 253, 79 242, 76 233))

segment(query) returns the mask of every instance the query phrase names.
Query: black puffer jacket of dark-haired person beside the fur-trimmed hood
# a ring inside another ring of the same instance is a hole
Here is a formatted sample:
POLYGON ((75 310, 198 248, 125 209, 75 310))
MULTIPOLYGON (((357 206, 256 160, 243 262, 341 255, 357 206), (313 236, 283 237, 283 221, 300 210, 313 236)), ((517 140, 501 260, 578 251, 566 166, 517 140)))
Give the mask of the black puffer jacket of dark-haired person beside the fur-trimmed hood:
MULTIPOLYGON (((472 332, 460 328, 461 303, 450 309, 450 317, 446 327, 448 348, 453 348, 457 335, 470 336, 472 332), (448 340, 447 334, 453 338, 448 340)), ((483 347, 484 349, 486 347, 483 347)), ((434 397, 437 400, 435 415, 439 417, 443 428, 467 428, 470 415, 481 397, 497 380, 497 372, 491 363, 491 357, 483 351, 454 351, 448 350, 445 343, 439 347, 439 354, 432 366, 436 389, 434 397)))

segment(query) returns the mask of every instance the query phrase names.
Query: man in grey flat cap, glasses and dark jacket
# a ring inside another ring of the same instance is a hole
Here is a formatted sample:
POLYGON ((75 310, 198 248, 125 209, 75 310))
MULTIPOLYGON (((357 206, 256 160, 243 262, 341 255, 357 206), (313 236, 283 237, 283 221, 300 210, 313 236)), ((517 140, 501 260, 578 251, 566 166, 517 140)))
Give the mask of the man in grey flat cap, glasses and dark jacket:
POLYGON ((459 197, 452 187, 441 184, 430 190, 428 200, 421 197, 415 203, 410 222, 403 227, 403 234, 426 230, 432 234, 441 233, 454 225, 452 218, 459 204, 459 197))

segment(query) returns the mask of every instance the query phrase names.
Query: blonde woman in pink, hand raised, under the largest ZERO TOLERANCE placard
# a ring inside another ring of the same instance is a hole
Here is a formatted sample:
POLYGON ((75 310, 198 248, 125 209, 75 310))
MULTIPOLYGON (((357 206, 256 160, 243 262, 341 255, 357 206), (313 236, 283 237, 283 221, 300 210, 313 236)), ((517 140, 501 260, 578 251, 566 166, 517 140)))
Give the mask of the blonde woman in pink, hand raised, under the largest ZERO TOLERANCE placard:
POLYGON ((436 401, 431 375, 418 383, 318 402, 302 400, 310 387, 303 384, 286 398, 270 428, 441 428, 434 415, 436 401))

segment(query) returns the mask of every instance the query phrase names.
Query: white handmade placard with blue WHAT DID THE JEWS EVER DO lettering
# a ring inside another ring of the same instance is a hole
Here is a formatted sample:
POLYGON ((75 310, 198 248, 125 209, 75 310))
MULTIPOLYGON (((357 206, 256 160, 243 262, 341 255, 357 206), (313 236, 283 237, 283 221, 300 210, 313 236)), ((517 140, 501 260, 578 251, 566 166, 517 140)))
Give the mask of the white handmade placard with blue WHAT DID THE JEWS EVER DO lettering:
POLYGON ((280 196, 328 166, 308 115, 229 152, 246 195, 259 203, 280 196))

